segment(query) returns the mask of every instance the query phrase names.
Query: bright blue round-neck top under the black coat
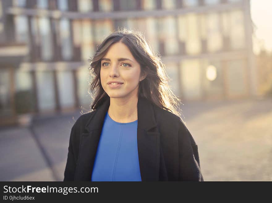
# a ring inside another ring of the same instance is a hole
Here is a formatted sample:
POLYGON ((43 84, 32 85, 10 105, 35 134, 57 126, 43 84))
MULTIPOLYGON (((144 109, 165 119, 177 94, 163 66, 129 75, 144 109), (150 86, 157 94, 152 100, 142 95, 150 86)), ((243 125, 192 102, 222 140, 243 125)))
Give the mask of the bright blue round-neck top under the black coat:
POLYGON ((91 181, 142 181, 137 126, 138 120, 119 123, 106 113, 91 181))

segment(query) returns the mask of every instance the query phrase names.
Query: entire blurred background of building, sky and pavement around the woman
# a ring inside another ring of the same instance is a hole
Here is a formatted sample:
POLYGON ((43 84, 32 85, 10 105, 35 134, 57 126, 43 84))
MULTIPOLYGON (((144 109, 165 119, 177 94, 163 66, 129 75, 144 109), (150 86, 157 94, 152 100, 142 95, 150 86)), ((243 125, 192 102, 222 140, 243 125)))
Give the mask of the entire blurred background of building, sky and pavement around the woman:
POLYGON ((63 180, 90 110, 88 59, 116 28, 160 54, 204 180, 272 180, 272 1, 0 0, 0 180, 63 180))

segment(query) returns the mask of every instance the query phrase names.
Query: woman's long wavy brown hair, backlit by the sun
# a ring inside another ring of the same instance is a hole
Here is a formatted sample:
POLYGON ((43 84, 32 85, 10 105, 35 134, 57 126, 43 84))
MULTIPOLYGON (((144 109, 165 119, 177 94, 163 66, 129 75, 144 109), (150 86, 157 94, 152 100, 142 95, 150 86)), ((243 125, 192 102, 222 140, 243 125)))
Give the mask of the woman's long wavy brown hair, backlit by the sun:
POLYGON ((89 74, 93 78, 89 87, 89 94, 93 99, 91 111, 95 111, 105 100, 110 99, 100 82, 101 59, 110 46, 117 42, 121 42, 129 48, 133 57, 140 64, 141 75, 147 74, 139 84, 138 96, 146 98, 153 104, 181 118, 179 113, 181 100, 176 97, 168 85, 170 78, 165 71, 165 65, 160 55, 155 55, 141 32, 126 28, 121 28, 121 30, 118 28, 107 36, 90 59, 89 74))

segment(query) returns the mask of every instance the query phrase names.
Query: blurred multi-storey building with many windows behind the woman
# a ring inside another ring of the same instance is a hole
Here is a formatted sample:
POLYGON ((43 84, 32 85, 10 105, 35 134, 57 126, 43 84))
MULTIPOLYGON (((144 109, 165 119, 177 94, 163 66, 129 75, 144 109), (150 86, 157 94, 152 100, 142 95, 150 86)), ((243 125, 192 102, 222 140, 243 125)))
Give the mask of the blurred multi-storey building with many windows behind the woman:
POLYGON ((256 95, 249 0, 0 0, 2 124, 89 108, 87 60, 117 27, 144 33, 182 100, 256 95))

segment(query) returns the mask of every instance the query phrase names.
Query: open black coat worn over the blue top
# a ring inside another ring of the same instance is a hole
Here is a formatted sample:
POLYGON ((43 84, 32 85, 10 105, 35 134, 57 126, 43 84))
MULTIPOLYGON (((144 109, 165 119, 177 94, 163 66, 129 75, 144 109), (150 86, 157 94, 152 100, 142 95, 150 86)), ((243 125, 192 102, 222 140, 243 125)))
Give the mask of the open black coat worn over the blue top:
MULTIPOLYGON (((142 181, 203 181, 198 146, 181 119, 142 97, 137 106, 142 181)), ((106 100, 95 111, 80 116, 72 127, 64 181, 91 181, 108 107, 106 100)))

